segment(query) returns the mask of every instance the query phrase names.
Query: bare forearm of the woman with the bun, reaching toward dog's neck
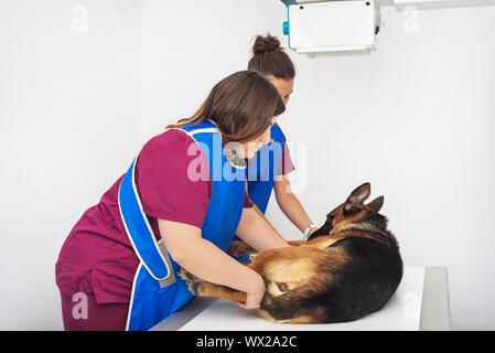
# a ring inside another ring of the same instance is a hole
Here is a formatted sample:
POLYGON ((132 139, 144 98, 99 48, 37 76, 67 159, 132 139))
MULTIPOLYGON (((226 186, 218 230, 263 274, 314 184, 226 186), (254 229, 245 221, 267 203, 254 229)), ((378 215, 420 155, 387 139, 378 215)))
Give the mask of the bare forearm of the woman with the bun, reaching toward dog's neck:
MULTIPOLYGON (((273 184, 275 196, 286 216, 301 231, 313 224, 311 218, 305 213, 298 197, 292 192, 290 180, 287 174, 281 175, 281 180, 276 180, 273 184)), ((310 235, 316 232, 316 228, 310 231, 310 235)))

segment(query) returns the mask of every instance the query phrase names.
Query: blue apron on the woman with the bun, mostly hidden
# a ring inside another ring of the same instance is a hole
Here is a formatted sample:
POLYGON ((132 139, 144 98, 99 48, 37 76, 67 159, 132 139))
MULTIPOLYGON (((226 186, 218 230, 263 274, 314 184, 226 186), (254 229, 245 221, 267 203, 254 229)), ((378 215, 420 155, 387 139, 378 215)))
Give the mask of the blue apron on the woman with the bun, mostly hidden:
MULTIPOLYGON (((258 150, 246 169, 249 199, 263 214, 267 211, 275 179, 282 160, 283 143, 286 141, 286 137, 277 122, 272 125, 270 136, 270 143, 263 145, 258 150)), ((240 238, 235 236, 234 240, 240 240, 240 238)), ((234 258, 238 261, 247 263, 250 256, 244 255, 234 258)))

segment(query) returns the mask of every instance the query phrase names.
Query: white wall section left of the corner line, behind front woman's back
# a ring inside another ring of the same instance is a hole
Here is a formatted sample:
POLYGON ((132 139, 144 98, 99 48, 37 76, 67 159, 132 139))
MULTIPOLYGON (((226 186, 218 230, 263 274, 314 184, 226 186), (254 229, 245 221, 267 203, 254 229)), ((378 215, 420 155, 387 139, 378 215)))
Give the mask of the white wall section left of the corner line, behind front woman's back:
POLYGON ((0 2, 0 330, 63 328, 58 252, 142 142, 138 10, 0 2))

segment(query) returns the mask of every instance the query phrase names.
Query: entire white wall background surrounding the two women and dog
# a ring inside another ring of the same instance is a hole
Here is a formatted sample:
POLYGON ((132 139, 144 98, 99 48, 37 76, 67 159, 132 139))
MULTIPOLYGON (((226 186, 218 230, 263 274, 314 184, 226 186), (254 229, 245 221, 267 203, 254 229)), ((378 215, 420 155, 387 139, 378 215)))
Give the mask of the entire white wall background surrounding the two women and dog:
MULTIPOLYGON (((146 139, 246 68, 256 34, 269 30, 287 46, 286 9, 278 0, 0 4, 0 329, 60 329, 54 264, 71 227, 146 139), (79 4, 84 33, 74 31, 79 4)), ((449 268, 454 329, 495 329, 494 15, 495 7, 421 10, 419 32, 406 32, 410 14, 386 7, 370 55, 290 53, 295 90, 280 117, 308 172, 298 195, 313 221, 372 182, 406 264, 449 268)), ((268 216, 300 236, 273 203, 268 216)))

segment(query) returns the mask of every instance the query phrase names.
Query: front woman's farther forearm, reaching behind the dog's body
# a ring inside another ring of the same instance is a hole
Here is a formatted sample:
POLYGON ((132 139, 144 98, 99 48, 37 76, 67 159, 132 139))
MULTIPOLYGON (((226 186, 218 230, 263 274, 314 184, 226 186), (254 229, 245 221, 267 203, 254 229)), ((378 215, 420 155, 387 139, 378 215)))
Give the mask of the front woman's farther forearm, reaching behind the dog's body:
POLYGON ((243 210, 236 235, 257 252, 290 246, 255 204, 243 210))

